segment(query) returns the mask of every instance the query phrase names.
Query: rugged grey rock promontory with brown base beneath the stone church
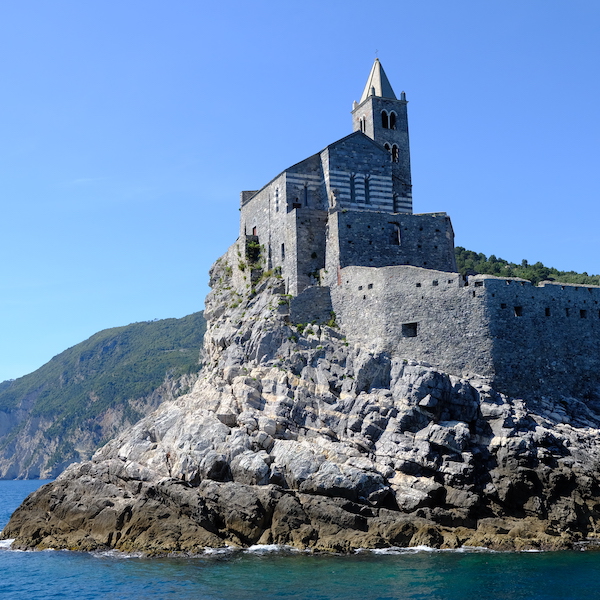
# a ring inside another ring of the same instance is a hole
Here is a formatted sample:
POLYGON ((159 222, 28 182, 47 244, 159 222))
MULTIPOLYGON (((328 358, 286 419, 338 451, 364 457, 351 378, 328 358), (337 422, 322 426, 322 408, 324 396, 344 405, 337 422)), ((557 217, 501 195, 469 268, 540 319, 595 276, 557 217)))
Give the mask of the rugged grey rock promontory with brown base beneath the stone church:
POLYGON ((234 245, 211 271, 192 392, 32 494, 17 548, 567 548, 600 535, 600 414, 508 398, 294 325, 234 245), (245 277, 247 279, 245 279, 245 277))

